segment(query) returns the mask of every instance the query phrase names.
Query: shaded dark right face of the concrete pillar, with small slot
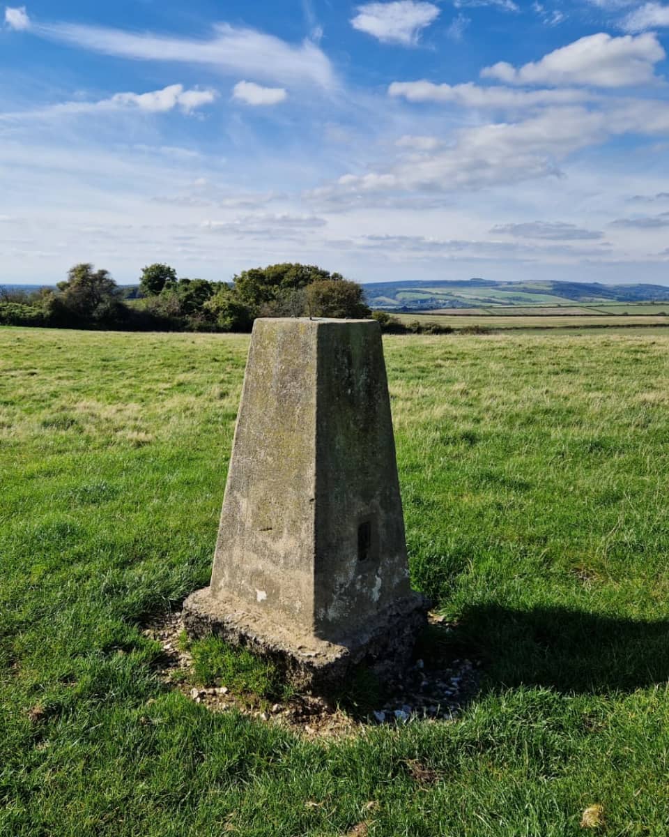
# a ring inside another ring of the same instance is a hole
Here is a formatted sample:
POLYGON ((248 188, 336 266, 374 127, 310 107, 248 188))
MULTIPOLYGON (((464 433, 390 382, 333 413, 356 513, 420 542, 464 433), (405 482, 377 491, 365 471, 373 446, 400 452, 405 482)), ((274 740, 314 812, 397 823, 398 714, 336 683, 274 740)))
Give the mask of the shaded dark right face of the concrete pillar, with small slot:
POLYGON ((314 630, 336 639, 411 594, 380 328, 319 328, 314 630))

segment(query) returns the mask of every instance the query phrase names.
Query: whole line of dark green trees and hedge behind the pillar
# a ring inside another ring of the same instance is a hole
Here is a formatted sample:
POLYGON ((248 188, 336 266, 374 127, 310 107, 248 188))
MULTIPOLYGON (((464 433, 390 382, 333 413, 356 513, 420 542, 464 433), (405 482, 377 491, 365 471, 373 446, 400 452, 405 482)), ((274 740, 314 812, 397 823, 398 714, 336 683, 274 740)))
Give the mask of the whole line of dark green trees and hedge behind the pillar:
POLYGON ((243 270, 232 284, 177 278, 169 264, 141 271, 135 299, 107 270, 75 264, 56 290, 0 288, 0 325, 167 331, 250 331, 258 316, 370 316, 363 289, 312 264, 243 270))

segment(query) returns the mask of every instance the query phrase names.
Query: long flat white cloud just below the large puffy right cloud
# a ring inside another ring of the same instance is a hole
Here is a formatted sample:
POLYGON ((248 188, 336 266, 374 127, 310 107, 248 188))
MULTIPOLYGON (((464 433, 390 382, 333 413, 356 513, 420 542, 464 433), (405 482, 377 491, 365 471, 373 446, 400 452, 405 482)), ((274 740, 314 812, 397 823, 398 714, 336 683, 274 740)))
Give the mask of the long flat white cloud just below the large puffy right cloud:
POLYGON ((540 105, 567 105, 592 99, 583 90, 512 90, 508 87, 480 87, 471 81, 463 85, 436 85, 432 81, 393 81, 391 96, 411 102, 447 102, 462 107, 521 110, 540 105))

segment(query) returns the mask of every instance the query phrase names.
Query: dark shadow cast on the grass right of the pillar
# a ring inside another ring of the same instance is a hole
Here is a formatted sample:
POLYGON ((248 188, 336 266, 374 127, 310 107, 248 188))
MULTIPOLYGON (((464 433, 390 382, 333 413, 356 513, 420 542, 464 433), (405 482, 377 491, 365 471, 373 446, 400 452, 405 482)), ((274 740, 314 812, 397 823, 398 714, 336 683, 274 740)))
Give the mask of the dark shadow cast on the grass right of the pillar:
POLYGON ((488 604, 467 609, 445 646, 445 653, 481 660, 493 688, 546 686, 596 694, 669 680, 669 620, 488 604))

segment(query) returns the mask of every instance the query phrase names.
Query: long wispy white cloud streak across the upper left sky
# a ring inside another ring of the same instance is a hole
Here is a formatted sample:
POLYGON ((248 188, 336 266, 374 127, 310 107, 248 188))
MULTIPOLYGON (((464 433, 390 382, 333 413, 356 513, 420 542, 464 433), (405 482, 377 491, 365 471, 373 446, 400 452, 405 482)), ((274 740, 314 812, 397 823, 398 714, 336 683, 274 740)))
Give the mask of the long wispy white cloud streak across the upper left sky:
POLYGON ((43 38, 121 58, 207 64, 237 77, 243 74, 292 85, 335 86, 329 59, 311 41, 294 46, 273 35, 227 23, 217 24, 213 37, 207 40, 74 23, 40 24, 32 31, 43 38))

